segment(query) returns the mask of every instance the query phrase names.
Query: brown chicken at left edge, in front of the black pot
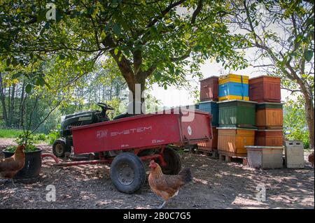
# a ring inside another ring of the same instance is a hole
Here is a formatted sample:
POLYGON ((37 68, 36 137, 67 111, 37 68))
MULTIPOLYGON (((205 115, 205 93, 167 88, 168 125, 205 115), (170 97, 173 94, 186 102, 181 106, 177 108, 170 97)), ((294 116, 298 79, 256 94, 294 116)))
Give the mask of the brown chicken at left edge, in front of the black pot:
MULTIPOLYGON (((25 165, 25 145, 18 145, 12 157, 0 160, 0 178, 8 178, 13 182, 13 177, 25 165)), ((13 185, 15 186, 14 182, 13 185)))

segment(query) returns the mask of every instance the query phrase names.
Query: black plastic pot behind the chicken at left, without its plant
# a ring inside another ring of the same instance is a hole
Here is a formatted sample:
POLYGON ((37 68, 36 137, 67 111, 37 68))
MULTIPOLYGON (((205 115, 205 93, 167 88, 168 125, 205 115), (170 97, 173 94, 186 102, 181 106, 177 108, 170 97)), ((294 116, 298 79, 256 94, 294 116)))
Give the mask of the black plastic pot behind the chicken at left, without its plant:
MULTIPOLYGON (((14 179, 31 179, 37 178, 41 171, 41 151, 37 149, 34 152, 25 152, 25 166, 18 171, 14 179)), ((14 152, 2 151, 5 158, 12 157, 14 152)))

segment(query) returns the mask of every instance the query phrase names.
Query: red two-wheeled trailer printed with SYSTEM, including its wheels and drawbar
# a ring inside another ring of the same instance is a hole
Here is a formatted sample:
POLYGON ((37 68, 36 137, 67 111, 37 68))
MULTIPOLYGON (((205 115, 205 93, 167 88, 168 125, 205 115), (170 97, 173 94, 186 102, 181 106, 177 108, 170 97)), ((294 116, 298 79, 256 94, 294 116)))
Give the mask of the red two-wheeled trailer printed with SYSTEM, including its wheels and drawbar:
POLYGON ((97 152, 99 160, 59 162, 58 166, 111 164, 111 180, 120 192, 131 194, 145 182, 142 161, 156 159, 166 174, 181 170, 174 145, 195 145, 210 141, 211 115, 199 110, 172 109, 125 117, 119 120, 72 127, 73 152, 97 152), (110 154, 110 158, 109 158, 110 154))

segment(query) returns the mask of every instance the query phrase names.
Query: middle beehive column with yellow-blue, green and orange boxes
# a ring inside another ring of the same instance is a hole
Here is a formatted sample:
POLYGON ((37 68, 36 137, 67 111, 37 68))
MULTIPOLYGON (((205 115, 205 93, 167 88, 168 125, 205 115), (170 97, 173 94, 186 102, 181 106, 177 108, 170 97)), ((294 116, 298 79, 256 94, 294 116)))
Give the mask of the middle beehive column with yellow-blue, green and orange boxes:
POLYGON ((246 157, 245 145, 255 141, 255 101, 248 101, 248 76, 229 74, 218 79, 218 153, 246 157))

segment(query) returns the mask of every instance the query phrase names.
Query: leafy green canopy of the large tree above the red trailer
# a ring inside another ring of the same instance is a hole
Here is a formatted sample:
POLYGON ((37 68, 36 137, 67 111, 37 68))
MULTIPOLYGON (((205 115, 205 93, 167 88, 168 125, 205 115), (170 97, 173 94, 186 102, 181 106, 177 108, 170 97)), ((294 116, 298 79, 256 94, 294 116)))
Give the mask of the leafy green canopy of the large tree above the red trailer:
MULTIPOLYGON (((0 54, 7 65, 28 66, 57 57, 78 64, 113 57, 129 89, 148 82, 181 85, 205 59, 246 66, 235 51, 241 35, 225 25, 221 1, 63 1, 48 20, 45 1, 1 1, 0 54), (188 59, 188 57, 190 59, 188 59)), ((82 66, 82 65, 80 65, 82 66)))

